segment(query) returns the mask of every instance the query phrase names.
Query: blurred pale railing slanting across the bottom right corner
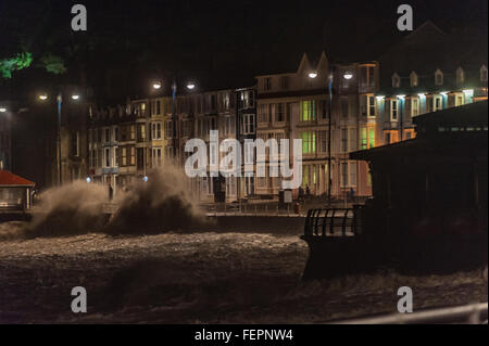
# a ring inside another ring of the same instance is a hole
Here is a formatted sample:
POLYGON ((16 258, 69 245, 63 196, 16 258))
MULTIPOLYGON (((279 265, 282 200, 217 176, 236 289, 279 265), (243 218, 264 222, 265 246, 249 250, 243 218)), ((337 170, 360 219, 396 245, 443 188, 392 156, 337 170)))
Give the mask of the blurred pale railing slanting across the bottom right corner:
POLYGON ((338 321, 330 324, 487 324, 487 303, 479 303, 413 313, 391 313, 373 318, 338 321))

